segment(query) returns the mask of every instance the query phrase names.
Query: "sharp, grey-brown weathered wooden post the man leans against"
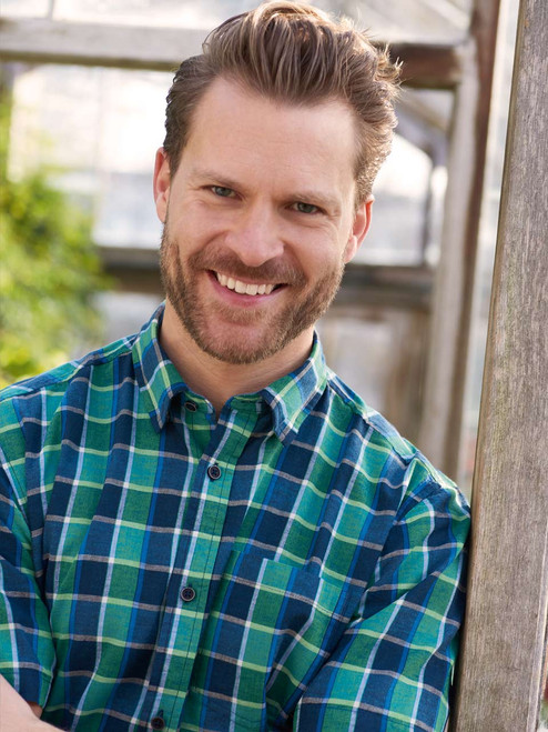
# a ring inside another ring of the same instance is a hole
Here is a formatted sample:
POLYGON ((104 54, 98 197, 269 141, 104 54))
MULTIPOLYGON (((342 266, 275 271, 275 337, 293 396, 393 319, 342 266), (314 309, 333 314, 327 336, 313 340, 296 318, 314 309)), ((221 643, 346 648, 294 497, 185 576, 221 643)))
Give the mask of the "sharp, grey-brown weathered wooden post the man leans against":
POLYGON ((548 601, 548 3, 521 0, 454 732, 534 732, 548 601))

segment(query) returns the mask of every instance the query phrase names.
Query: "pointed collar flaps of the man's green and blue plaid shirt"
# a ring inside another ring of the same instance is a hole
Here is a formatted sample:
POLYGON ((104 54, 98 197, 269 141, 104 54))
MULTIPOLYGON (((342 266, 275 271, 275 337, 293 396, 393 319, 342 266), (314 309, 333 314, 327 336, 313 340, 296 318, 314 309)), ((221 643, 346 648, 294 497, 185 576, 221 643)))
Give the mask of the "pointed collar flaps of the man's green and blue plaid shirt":
MULTIPOLYGON (((133 343, 133 364, 141 393, 148 402, 146 410, 156 431, 161 431, 169 418, 170 407, 174 397, 187 393, 193 400, 186 383, 181 379, 165 351, 158 340, 164 305, 160 305, 151 320, 142 328, 133 343)), ((277 379, 272 384, 257 392, 255 402, 261 400, 271 409, 273 431, 284 443, 291 441, 298 432, 306 415, 312 411, 325 390, 328 369, 319 340, 314 333, 312 351, 306 361, 294 372, 277 379)), ((253 394, 246 394, 250 403, 253 394)), ((203 397, 197 400, 204 401, 203 397)), ((232 404, 236 405, 241 398, 235 397, 232 404)))

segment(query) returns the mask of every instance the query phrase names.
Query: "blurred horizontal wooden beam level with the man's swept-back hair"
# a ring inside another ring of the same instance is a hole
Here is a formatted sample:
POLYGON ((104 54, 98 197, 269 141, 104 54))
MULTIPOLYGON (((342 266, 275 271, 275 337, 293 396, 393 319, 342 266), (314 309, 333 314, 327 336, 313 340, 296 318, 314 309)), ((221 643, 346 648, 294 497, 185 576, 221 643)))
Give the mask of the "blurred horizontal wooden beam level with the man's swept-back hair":
MULTIPOLYGON (((0 58, 30 63, 171 71, 183 59, 201 52, 206 33, 204 29, 151 29, 10 18, 0 20, 0 58)), ((453 88, 460 79, 459 47, 395 43, 390 52, 403 61, 404 79, 409 86, 453 88)))

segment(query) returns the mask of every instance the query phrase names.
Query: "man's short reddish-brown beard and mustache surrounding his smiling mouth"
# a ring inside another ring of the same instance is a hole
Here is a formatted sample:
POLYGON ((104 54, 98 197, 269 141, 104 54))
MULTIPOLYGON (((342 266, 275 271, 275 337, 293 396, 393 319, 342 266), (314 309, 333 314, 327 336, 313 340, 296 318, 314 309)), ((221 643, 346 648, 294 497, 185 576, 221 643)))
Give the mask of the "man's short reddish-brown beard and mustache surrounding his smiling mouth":
POLYGON ((165 297, 199 348, 225 363, 250 364, 280 352, 314 325, 341 287, 344 261, 341 258, 338 267, 328 270, 313 284, 307 284, 304 273, 287 263, 268 261, 251 268, 232 252, 220 251, 213 245, 194 252, 183 265, 179 245, 169 234, 166 220, 160 270, 165 297), (282 308, 275 302, 244 309, 206 301, 197 282, 211 271, 253 282, 283 282, 284 287, 292 289, 293 297, 282 308))

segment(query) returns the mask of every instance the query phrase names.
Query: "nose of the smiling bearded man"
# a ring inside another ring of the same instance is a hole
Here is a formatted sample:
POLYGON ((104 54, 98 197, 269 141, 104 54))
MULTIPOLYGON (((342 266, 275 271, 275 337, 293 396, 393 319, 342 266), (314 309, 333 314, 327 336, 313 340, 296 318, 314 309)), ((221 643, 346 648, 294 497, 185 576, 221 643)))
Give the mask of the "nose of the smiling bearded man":
POLYGON ((281 224, 267 205, 250 205, 241 211, 225 242, 247 267, 261 267, 284 251, 281 224))

